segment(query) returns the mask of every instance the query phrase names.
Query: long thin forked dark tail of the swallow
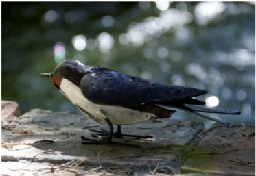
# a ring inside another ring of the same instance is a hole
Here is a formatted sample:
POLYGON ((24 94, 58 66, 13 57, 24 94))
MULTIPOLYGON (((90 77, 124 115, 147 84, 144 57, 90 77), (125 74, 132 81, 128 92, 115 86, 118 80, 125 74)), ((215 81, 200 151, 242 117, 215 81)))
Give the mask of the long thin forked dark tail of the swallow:
POLYGON ((177 109, 180 109, 180 110, 184 110, 184 111, 189 112, 191 114, 194 114, 196 116, 200 116, 200 117, 206 118, 210 121, 215 121, 217 123, 221 123, 221 124, 226 125, 228 127, 233 127, 233 125, 231 125, 230 123, 220 121, 216 118, 211 118, 209 116, 205 116, 205 114, 200 114, 198 112, 209 112, 209 113, 219 113, 219 114, 241 114, 240 111, 219 111, 219 110, 211 110, 211 109, 207 109, 207 108, 198 108, 198 109, 196 109, 196 108, 194 108, 194 106, 193 106, 193 108, 190 108, 190 107, 187 107, 185 105, 178 105, 178 106, 177 105, 176 106, 175 105, 172 105, 172 106, 158 105, 158 106, 160 106, 162 108, 165 108, 165 109, 168 109, 168 110, 172 110, 172 108, 177 108, 177 109), (196 111, 198 111, 198 112, 196 112, 196 111))

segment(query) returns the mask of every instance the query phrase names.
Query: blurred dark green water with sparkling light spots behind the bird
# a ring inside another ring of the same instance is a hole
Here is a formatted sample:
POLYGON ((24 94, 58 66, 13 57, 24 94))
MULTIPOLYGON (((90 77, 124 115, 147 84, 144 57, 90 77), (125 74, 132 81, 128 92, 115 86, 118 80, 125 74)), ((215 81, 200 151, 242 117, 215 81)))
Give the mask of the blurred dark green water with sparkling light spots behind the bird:
POLYGON ((40 77, 65 59, 207 89, 209 107, 242 110, 211 116, 255 123, 253 2, 2 3, 2 99, 78 112, 40 77))

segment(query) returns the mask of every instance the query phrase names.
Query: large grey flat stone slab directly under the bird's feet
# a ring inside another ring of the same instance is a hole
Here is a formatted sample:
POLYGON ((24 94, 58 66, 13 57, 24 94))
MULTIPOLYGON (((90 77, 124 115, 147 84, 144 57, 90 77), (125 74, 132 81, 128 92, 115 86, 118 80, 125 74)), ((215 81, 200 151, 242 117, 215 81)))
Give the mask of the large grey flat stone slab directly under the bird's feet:
MULTIPOLYGON (((178 159, 181 151, 179 146, 189 144, 198 131, 203 129, 203 125, 195 121, 176 123, 177 121, 167 118, 158 123, 146 122, 122 126, 123 134, 153 135, 152 140, 113 138, 113 141, 121 144, 82 144, 80 136, 92 138, 88 127, 108 129, 108 126, 96 123, 80 114, 34 109, 20 116, 18 122, 10 122, 10 125, 15 124, 16 127, 2 130, 3 142, 23 143, 13 146, 12 149, 2 147, 2 160, 8 164, 6 168, 16 162, 14 158, 57 165, 79 160, 82 161, 80 166, 96 168, 99 166, 97 156, 100 153, 99 160, 102 167, 119 166, 124 168, 124 171, 150 175, 148 164, 152 171, 159 164, 158 173, 163 175, 181 173, 181 162, 178 159), (19 134, 16 133, 17 129, 30 131, 19 134), (54 143, 25 145, 39 140, 53 140, 54 143), (49 149, 54 153, 45 153, 49 149), (10 160, 12 162, 8 162, 8 158, 12 158, 10 160)), ((27 171, 19 171, 22 172, 27 171)))

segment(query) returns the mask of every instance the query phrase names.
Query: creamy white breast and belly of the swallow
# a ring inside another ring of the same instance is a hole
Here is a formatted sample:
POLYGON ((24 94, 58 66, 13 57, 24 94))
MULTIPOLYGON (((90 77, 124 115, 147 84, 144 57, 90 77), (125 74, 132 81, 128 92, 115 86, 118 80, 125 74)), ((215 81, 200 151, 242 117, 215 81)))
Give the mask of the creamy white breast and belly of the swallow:
POLYGON ((84 97, 80 88, 75 86, 75 84, 67 79, 62 79, 60 89, 62 90, 62 93, 64 93, 64 95, 70 99, 74 105, 78 105, 83 108, 86 112, 91 114, 91 118, 93 118, 93 120, 97 121, 98 123, 106 123, 106 121, 104 120, 103 116, 96 113, 97 110, 102 110, 108 120, 111 123, 117 125, 139 123, 154 117, 153 114, 139 112, 137 110, 131 110, 121 106, 98 105, 91 103, 88 99, 86 99, 86 97, 84 97))

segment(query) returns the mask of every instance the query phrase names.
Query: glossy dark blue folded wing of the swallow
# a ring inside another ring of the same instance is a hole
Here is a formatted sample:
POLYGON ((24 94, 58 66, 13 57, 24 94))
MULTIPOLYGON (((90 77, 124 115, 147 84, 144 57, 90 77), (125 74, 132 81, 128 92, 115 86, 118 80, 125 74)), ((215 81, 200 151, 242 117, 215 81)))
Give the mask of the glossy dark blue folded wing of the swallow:
POLYGON ((206 90, 156 83, 100 67, 84 75, 80 87, 83 95, 93 103, 128 107, 185 103, 191 97, 207 93, 206 90))

